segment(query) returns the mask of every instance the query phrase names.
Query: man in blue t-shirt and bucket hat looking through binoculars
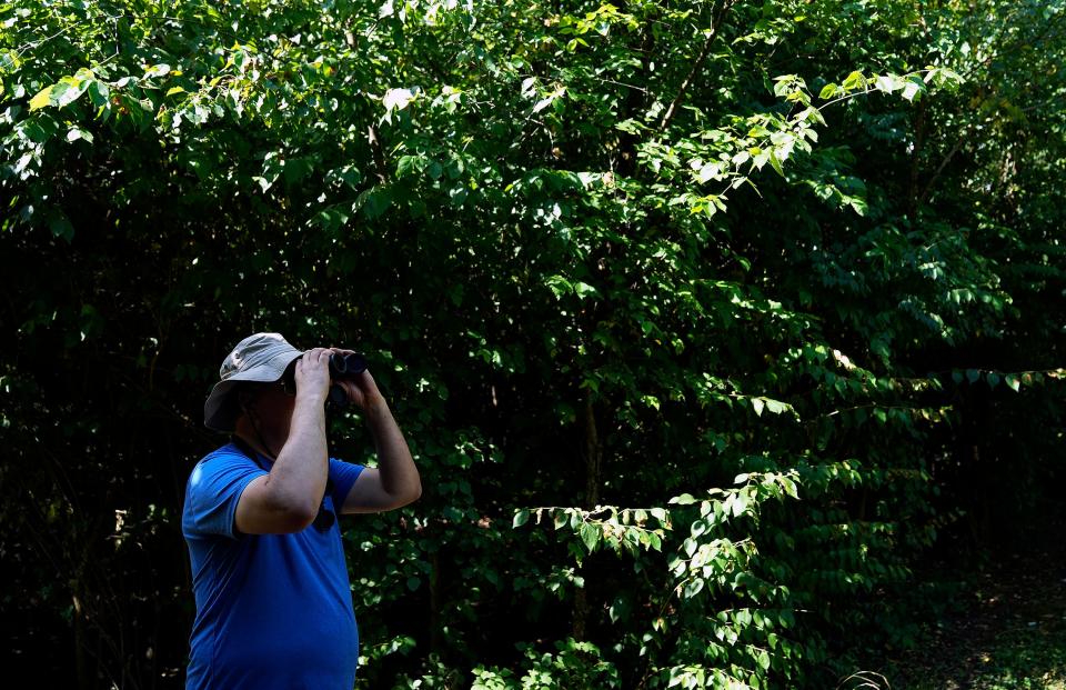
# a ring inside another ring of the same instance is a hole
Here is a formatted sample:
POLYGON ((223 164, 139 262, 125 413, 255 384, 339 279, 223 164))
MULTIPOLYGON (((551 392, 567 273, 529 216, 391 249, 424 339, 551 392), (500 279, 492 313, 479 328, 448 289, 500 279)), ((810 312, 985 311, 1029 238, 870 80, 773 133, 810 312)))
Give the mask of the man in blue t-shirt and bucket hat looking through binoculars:
POLYGON ((182 514, 197 600, 188 690, 354 684, 359 633, 336 514, 400 508, 422 486, 370 373, 331 382, 330 356, 350 352, 301 352, 257 333, 222 363, 204 423, 232 441, 193 469, 182 514), (378 468, 328 456, 331 383, 361 409, 378 468))

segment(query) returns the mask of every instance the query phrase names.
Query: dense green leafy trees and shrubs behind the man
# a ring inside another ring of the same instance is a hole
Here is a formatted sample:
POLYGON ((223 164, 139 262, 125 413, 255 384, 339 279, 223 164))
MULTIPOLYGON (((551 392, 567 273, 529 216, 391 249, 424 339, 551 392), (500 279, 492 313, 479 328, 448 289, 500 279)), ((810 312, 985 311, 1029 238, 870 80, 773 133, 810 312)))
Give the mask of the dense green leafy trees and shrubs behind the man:
POLYGON ((879 668, 1062 517, 1064 9, 0 3, 8 668, 181 686, 258 330, 365 352, 422 471, 346 524, 359 687, 879 668))

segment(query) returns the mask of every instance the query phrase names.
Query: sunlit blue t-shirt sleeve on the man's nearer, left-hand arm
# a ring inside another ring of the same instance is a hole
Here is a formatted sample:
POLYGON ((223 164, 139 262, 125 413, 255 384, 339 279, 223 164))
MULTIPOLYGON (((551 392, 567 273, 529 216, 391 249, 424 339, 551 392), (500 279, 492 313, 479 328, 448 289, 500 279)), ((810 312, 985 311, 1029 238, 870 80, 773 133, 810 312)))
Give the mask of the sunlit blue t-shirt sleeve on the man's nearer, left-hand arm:
POLYGON ((245 456, 220 452, 200 461, 189 477, 184 528, 193 534, 237 538, 237 504, 244 488, 266 471, 245 456))

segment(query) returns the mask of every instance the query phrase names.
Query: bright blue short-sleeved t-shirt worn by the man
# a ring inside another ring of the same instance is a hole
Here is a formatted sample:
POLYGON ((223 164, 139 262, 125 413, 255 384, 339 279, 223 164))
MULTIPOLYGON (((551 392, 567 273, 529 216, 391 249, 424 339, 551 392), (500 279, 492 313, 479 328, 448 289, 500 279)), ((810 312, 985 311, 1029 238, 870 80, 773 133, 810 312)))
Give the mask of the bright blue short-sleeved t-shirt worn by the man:
MULTIPOLYGON (((263 467, 269 461, 258 458, 263 467)), ((325 509, 338 514, 363 470, 330 458, 325 509)), ((260 464, 233 443, 189 477, 181 531, 192 560, 197 619, 187 690, 351 690, 359 631, 336 521, 324 532, 242 534, 241 492, 260 464)))

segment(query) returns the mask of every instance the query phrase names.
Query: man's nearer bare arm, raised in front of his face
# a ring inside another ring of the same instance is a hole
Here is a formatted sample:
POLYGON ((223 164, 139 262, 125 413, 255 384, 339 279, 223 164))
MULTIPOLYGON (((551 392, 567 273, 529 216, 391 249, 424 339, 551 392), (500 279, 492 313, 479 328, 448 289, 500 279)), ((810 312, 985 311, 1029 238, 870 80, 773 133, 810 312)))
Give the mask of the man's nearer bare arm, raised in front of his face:
POLYGON ((237 529, 245 534, 299 532, 318 513, 330 467, 324 407, 329 353, 316 348, 296 362, 289 438, 270 473, 253 479, 237 504, 237 529))

